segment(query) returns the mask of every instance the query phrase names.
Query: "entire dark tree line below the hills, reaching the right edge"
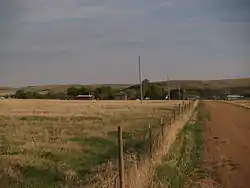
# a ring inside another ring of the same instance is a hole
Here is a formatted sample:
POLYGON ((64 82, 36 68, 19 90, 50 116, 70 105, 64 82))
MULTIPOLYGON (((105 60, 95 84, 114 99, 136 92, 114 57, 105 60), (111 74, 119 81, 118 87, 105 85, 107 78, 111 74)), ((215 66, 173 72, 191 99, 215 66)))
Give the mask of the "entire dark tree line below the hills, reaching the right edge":
MULTIPOLYGON (((168 95, 168 91, 164 88, 163 85, 150 83, 148 79, 142 81, 142 96, 143 98, 149 98, 151 100, 164 100, 168 95)), ((185 99, 187 95, 200 96, 203 99, 211 98, 217 96, 223 98, 225 93, 231 91, 233 93, 242 93, 244 96, 249 94, 249 88, 238 88, 235 89, 208 89, 208 88, 184 88, 171 89, 170 95, 171 99, 185 99)), ((117 90, 109 86, 101 86, 97 88, 87 88, 87 87, 70 87, 66 92, 55 92, 48 91, 46 94, 39 93, 37 91, 25 91, 18 90, 14 98, 19 99, 62 99, 62 100, 71 100, 75 99, 77 95, 92 94, 95 99, 98 100, 116 100, 116 99, 140 99, 140 85, 134 85, 123 90, 117 90)))

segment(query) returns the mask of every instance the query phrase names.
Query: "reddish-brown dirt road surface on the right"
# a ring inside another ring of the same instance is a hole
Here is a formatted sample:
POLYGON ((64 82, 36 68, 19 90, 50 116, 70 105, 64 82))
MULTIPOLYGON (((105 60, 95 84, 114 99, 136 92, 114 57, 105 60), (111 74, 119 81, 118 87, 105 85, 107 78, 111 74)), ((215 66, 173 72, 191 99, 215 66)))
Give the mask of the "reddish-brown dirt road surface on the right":
POLYGON ((250 188, 250 109, 206 101, 205 164, 222 188, 250 188))

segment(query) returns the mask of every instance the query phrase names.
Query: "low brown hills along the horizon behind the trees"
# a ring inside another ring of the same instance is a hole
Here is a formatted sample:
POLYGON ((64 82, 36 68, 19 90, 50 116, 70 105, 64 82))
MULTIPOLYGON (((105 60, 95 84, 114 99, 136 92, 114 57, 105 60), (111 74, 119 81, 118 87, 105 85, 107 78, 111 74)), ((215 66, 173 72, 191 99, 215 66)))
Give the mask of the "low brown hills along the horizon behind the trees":
MULTIPOLYGON (((240 93, 250 94, 250 78, 241 79, 223 79, 223 80, 170 80, 170 81, 159 81, 151 82, 151 84, 157 85, 159 87, 167 89, 177 89, 180 86, 185 90, 215 90, 215 91, 235 91, 240 93)), ((86 87, 95 89, 101 86, 109 86, 116 91, 129 91, 133 89, 138 89, 139 84, 92 84, 92 85, 80 85, 80 84, 70 84, 70 85, 43 85, 43 86, 28 86, 23 88, 10 88, 10 87, 0 87, 0 95, 15 93, 18 89, 24 91, 36 91, 41 94, 46 94, 49 91, 54 93, 64 93, 70 87, 86 87)))

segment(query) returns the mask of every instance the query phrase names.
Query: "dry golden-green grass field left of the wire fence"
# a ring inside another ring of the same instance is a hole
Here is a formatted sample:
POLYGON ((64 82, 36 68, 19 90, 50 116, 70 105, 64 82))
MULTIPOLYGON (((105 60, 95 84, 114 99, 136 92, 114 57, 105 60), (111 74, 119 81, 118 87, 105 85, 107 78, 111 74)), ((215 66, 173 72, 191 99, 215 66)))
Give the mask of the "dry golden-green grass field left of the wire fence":
MULTIPOLYGON (((180 101, 179 101, 180 102, 180 101)), ((160 128, 177 101, 0 101, 0 184, 79 187, 95 166, 124 149, 144 152, 145 128, 160 128)))

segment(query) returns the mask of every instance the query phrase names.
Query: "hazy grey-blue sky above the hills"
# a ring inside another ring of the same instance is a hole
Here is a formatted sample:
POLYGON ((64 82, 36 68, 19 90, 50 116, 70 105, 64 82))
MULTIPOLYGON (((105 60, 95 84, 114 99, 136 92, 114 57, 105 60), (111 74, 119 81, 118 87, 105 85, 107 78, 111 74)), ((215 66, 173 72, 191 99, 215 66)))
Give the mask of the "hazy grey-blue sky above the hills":
POLYGON ((249 0, 2 0, 0 85, 250 77, 249 0))

